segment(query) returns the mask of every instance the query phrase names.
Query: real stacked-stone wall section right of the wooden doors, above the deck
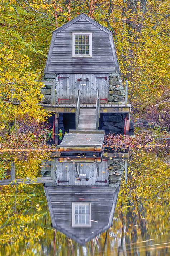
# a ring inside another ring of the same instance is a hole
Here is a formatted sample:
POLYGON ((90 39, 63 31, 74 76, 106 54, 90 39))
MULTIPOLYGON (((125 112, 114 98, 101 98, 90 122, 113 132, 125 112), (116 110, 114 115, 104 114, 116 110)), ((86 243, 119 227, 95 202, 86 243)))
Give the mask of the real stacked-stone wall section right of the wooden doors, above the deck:
POLYGON ((120 74, 109 74, 109 95, 108 104, 122 104, 125 103, 125 91, 122 86, 120 74))

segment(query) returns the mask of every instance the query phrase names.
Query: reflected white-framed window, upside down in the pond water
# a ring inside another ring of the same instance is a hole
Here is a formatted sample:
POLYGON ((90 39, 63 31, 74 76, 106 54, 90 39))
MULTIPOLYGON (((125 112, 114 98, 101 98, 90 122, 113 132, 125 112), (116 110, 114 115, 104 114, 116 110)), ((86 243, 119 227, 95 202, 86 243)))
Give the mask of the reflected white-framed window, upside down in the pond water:
POLYGON ((91 227, 91 203, 72 203, 72 226, 91 227))

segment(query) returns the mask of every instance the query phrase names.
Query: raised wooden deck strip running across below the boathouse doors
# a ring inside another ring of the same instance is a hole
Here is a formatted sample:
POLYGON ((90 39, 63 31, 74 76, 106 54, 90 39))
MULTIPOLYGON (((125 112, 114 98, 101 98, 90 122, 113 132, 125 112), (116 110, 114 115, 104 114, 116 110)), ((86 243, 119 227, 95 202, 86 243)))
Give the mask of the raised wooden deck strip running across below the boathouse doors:
MULTIPOLYGON (((75 113, 76 104, 40 104, 48 112, 54 113, 75 113)), ((95 109, 96 104, 80 104, 80 109, 95 109)), ((100 113, 129 113, 131 105, 127 104, 100 104, 100 113)))

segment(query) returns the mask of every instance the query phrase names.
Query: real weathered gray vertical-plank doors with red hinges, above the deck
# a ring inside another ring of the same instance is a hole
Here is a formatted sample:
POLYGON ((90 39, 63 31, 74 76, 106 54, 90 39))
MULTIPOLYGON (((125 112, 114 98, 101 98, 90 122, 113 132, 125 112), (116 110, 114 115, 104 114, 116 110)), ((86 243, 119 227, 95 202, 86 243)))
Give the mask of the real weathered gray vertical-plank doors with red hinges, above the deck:
MULTIPOLYGON (((107 99, 109 93, 109 75, 106 73, 100 74, 68 74, 60 73, 57 74, 57 97, 60 99, 60 103, 76 103, 78 90, 80 90, 80 103, 96 103, 97 90, 100 91, 100 99, 107 99), (59 78, 59 77, 69 77, 69 78, 59 78), (96 78, 96 77, 107 77, 96 78), (86 80, 82 86, 78 79, 86 80), (64 99, 64 100, 61 100, 64 99), (69 99, 65 101, 65 99, 69 99)), ((100 103, 105 103, 105 100, 100 100, 100 103)))

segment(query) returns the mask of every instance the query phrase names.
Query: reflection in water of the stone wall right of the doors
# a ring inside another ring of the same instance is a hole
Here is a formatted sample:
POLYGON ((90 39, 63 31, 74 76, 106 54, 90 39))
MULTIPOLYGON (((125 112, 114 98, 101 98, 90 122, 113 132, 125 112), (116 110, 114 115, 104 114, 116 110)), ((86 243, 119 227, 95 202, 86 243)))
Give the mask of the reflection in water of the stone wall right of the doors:
POLYGON ((115 184, 120 184, 125 170, 124 159, 108 159, 109 166, 109 187, 114 187, 115 184))

